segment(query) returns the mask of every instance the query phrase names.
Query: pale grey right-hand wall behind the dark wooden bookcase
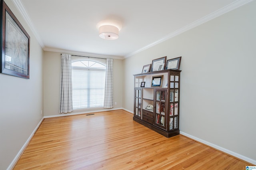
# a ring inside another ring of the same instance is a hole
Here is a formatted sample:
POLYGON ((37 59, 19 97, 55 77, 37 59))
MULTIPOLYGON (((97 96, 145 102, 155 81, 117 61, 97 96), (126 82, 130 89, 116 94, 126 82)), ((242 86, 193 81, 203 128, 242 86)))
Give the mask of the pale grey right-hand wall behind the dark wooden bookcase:
POLYGON ((133 74, 182 56, 180 130, 256 162, 256 1, 124 60, 123 107, 133 111, 133 74))

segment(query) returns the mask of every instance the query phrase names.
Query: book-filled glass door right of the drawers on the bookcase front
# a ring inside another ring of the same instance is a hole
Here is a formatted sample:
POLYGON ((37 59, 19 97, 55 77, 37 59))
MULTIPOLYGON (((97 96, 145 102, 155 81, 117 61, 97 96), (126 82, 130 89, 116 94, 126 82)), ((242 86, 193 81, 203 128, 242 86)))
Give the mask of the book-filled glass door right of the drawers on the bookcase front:
POLYGON ((166 89, 154 91, 154 125, 166 129, 166 89))

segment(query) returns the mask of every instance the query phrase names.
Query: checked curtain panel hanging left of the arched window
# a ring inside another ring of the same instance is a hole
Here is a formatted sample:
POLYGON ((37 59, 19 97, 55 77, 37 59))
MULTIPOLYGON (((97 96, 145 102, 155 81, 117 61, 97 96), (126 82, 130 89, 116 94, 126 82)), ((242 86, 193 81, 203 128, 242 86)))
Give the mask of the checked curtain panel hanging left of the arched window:
POLYGON ((72 105, 72 65, 71 55, 61 55, 60 73, 60 113, 73 111, 72 105))

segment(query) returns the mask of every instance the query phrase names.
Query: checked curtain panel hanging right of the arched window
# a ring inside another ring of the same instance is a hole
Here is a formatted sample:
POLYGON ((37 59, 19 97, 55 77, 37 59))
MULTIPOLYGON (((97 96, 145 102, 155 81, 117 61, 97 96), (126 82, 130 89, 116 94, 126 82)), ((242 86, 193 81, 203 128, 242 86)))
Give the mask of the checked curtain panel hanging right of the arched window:
POLYGON ((114 107, 113 97, 113 59, 106 61, 106 79, 104 92, 104 108, 110 109, 114 107))

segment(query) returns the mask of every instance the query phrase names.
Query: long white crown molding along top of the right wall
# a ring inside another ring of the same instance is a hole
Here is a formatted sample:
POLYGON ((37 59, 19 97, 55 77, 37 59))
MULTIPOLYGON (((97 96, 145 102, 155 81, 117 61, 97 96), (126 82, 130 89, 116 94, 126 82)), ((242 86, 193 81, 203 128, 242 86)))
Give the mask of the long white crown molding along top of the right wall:
POLYGON ((178 36, 179 34, 182 34, 183 32, 186 32, 192 28, 195 28, 196 26, 204 24, 205 22, 208 22, 220 15, 230 12, 231 10, 234 10, 234 9, 236 9, 244 4, 247 4, 248 2, 251 2, 251 1, 253 1, 253 0, 236 0, 235 2, 228 4, 227 6, 224 6, 223 8, 220 8, 219 10, 216 10, 215 12, 212 12, 211 14, 206 15, 203 18, 200 18, 199 20, 192 22, 191 24, 188 24, 188 25, 184 26, 183 28, 180 28, 180 29, 168 34, 167 36, 165 36, 164 38, 162 38, 158 41, 156 41, 154 43, 150 43, 149 45, 146 45, 145 47, 142 47, 142 48, 138 49, 137 51, 134 51, 134 52, 126 55, 124 58, 131 57, 132 55, 135 55, 141 51, 144 51, 145 49, 148 49, 154 45, 157 45, 158 43, 164 42, 170 38, 178 36))

